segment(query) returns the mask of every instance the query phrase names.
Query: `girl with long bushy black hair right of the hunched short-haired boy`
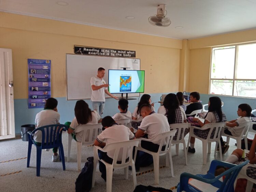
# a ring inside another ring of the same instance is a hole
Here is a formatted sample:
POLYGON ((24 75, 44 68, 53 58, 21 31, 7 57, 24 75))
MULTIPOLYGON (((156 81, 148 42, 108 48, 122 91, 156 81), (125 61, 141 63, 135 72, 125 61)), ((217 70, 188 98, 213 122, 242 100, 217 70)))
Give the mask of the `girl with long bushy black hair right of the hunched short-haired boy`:
MULTIPOLYGON (((165 115, 168 119, 169 124, 187 122, 184 109, 180 106, 177 96, 173 93, 169 93, 168 95, 166 95, 165 100, 163 100, 163 105, 158 108, 157 113, 165 115)), ((189 130, 186 129, 185 135, 188 134, 188 132, 189 130)), ((173 140, 177 139, 177 134, 178 132, 176 132, 173 140)))

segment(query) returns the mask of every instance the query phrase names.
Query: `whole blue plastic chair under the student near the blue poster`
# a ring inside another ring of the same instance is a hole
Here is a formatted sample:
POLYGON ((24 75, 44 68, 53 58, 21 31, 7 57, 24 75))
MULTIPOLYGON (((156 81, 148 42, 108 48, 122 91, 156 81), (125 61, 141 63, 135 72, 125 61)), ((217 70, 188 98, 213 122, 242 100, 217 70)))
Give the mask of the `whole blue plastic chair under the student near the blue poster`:
POLYGON ((37 176, 40 176, 42 149, 52 149, 54 147, 58 147, 59 148, 59 154, 60 154, 59 158, 60 158, 60 161, 62 160, 63 171, 66 169, 63 145, 62 145, 62 142, 61 142, 61 134, 62 134, 62 131, 66 131, 67 129, 68 128, 66 127, 66 125, 53 124, 53 125, 45 125, 43 127, 39 127, 37 129, 35 129, 32 132, 28 132, 27 167, 29 167, 32 144, 34 144, 34 146, 37 147, 37 176), (41 144, 41 146, 37 146, 34 143, 33 136, 34 136, 34 133, 36 131, 41 131, 42 132, 42 144, 41 144), (53 139, 53 138, 55 138, 55 139, 53 139), (46 142, 44 142, 44 141, 46 141, 46 142))

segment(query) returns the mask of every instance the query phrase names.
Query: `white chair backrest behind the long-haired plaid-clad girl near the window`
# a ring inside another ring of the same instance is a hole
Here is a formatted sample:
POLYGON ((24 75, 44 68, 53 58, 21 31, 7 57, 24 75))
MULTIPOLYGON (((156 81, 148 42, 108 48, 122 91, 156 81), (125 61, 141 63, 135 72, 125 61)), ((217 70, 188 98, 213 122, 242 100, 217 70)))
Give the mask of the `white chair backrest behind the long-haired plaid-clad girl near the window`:
POLYGON ((221 130, 224 129, 226 122, 220 123, 207 123, 202 128, 210 129, 207 140, 208 142, 218 141, 221 135, 221 130))

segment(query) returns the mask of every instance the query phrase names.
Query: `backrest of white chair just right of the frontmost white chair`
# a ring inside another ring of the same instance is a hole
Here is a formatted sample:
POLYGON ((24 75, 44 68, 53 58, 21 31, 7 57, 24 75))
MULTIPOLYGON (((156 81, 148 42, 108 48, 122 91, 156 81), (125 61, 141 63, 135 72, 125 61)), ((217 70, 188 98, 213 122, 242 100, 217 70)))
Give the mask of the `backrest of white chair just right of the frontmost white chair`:
POLYGON ((176 129, 172 130, 172 131, 168 131, 165 133, 159 133, 158 135, 156 135, 153 139, 150 139, 151 142, 160 142, 159 145, 159 149, 158 149, 158 153, 166 153, 167 151, 169 151, 169 149, 171 148, 171 142, 172 142, 172 138, 174 137, 175 133, 176 133, 176 129), (165 145, 165 150, 162 151, 162 146, 165 145))

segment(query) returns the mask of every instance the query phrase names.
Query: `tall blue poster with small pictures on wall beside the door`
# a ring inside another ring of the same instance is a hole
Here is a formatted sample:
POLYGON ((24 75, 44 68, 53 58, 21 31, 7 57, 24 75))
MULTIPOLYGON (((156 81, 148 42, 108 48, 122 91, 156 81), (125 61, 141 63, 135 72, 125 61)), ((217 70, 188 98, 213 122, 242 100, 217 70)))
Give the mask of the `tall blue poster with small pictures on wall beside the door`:
POLYGON ((28 59, 28 108, 43 108, 51 97, 51 60, 28 59))

